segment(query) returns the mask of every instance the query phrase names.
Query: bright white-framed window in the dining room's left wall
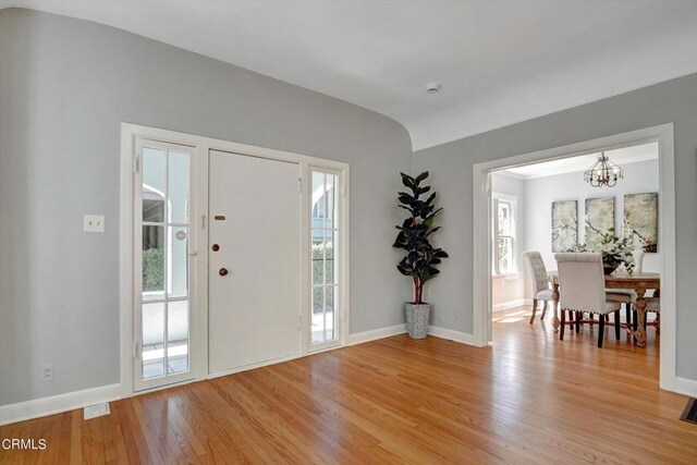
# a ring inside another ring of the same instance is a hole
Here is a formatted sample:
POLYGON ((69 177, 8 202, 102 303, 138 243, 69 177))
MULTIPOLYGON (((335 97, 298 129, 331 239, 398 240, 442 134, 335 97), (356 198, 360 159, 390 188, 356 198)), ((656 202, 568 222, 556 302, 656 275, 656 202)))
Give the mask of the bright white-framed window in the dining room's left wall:
POLYGON ((516 199, 493 194, 493 269, 494 276, 517 272, 516 199))

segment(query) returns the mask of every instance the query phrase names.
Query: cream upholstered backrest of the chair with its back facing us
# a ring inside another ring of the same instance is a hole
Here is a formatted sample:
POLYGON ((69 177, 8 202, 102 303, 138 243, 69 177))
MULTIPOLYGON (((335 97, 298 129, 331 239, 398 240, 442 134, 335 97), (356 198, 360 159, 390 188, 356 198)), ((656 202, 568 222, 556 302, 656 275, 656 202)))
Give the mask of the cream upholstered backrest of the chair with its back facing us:
POLYGON ((600 254, 557 254, 561 308, 599 311, 606 305, 606 278, 600 254))

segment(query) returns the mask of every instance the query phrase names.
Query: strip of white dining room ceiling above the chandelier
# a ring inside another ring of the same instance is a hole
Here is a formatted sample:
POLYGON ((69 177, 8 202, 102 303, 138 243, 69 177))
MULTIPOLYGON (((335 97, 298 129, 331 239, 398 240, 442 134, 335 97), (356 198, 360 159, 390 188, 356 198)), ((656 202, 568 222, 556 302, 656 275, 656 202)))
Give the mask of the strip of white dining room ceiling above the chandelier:
MULTIPOLYGON (((553 176, 555 174, 575 173, 586 171, 598 160, 600 152, 579 155, 577 157, 562 158, 560 160, 545 161, 541 163, 526 164, 524 167, 509 168, 498 171, 514 178, 530 180, 534 178, 553 176)), ((628 163, 638 161, 657 160, 658 143, 635 145, 633 147, 606 150, 610 161, 623 168, 628 163)))

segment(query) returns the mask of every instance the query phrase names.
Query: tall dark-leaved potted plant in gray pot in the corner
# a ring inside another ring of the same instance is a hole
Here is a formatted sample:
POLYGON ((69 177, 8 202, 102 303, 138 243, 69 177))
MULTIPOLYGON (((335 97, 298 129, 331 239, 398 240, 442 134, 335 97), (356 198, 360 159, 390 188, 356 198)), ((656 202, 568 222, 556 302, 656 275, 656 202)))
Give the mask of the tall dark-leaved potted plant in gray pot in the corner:
POLYGON ((436 209, 433 204, 436 193, 421 199, 421 196, 431 189, 430 186, 421 187, 421 182, 428 178, 428 171, 416 178, 404 173, 400 174, 402 175, 402 184, 409 192, 399 193, 399 207, 407 210, 409 216, 402 225, 395 227, 400 232, 393 246, 402 248, 406 253, 396 269, 402 274, 411 277, 414 285, 414 302, 406 303, 404 308, 407 331, 413 339, 424 339, 428 333, 430 316, 430 304, 421 299, 424 284, 438 276, 440 271, 436 265, 440 264, 442 258, 448 257, 444 250, 435 248, 429 241, 430 235, 440 229, 440 227, 433 227, 433 219, 442 208, 436 209))

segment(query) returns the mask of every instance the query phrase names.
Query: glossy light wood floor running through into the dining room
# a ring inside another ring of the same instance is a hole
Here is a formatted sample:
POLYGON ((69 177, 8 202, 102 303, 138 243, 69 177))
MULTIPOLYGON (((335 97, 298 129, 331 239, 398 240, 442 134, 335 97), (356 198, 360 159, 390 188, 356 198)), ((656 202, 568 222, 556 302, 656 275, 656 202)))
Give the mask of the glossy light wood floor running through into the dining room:
POLYGON ((0 440, 48 449, 0 449, 0 462, 697 463, 686 397, 658 389, 652 329, 646 350, 612 334, 598 348, 589 328, 560 342, 515 313, 497 315, 493 347, 399 335, 114 402, 87 421, 1 427, 0 440))

